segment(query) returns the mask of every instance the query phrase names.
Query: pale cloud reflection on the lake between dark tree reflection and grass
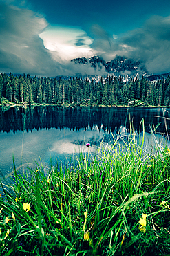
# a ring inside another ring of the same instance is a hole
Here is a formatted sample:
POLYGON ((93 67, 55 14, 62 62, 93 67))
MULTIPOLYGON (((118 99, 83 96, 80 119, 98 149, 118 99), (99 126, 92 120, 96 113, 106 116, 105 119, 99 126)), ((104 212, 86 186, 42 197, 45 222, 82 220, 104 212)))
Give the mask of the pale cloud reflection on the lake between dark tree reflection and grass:
POLYGON ((93 146, 100 142, 103 134, 104 131, 99 132, 96 128, 79 131, 51 128, 41 131, 33 129, 31 133, 0 133, 0 171, 3 181, 13 172, 13 156, 17 168, 22 165, 23 170, 35 161, 40 162, 40 158, 44 166, 50 163, 54 165, 56 161, 70 161, 79 152, 94 152, 93 146), (90 149, 85 147, 87 142, 92 145, 90 149))

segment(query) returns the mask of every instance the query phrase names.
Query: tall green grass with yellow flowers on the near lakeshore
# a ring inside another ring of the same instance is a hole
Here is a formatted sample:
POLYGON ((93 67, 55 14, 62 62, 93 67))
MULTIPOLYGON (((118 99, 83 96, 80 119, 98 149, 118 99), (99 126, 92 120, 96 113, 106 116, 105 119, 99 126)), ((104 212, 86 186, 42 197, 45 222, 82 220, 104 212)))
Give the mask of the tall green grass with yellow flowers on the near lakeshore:
POLYGON ((14 166, 14 185, 1 184, 0 254, 169 255, 170 151, 144 154, 143 138, 74 165, 14 166))

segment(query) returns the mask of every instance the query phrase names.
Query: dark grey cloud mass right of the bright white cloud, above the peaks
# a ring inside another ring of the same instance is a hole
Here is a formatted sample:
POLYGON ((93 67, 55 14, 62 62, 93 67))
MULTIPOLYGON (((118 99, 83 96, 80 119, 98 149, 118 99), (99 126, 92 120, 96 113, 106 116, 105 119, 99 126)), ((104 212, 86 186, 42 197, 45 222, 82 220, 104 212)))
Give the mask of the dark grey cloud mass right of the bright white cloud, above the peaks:
POLYGON ((150 73, 170 71, 170 17, 152 17, 142 28, 119 35, 118 39, 96 25, 92 32, 96 37, 91 47, 105 60, 121 55, 144 62, 150 73))

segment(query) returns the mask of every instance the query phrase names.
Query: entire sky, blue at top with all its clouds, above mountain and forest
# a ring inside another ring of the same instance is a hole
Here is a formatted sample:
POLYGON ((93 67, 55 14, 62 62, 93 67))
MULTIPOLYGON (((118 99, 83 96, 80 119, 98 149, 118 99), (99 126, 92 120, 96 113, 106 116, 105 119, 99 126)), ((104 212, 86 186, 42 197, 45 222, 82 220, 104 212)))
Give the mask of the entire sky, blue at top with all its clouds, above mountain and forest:
POLYGON ((0 0, 0 73, 98 75, 70 62, 94 55, 170 72, 170 1, 0 0))

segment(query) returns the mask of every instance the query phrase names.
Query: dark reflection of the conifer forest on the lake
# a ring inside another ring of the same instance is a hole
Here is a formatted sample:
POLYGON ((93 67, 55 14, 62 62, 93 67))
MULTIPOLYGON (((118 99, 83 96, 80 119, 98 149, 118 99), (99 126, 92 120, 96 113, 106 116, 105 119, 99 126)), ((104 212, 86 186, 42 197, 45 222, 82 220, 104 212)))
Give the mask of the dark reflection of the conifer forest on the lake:
MULTIPOLYGON (((165 110, 165 109, 164 109, 165 110)), ((157 132, 166 132, 163 116, 170 117, 170 109, 163 113, 162 108, 126 108, 126 107, 14 107, 4 111, 0 108, 0 131, 33 131, 33 129, 65 129, 72 131, 97 127, 104 132, 118 131, 120 127, 129 129, 133 122, 139 131, 140 121, 145 119, 145 129, 160 122, 157 132)), ((167 120, 167 127, 170 121, 167 120)), ((169 127, 170 128, 170 127, 169 127)))

